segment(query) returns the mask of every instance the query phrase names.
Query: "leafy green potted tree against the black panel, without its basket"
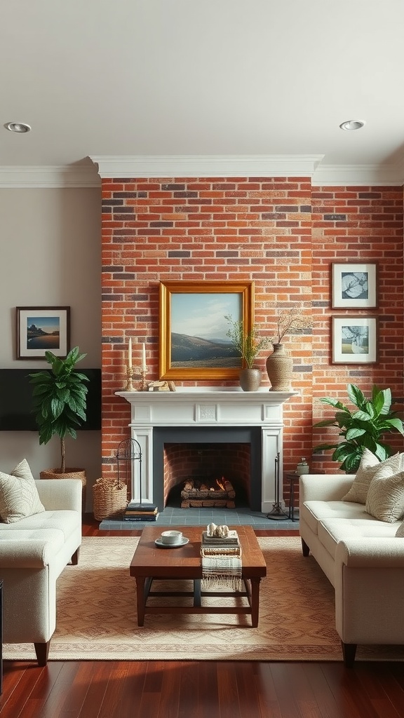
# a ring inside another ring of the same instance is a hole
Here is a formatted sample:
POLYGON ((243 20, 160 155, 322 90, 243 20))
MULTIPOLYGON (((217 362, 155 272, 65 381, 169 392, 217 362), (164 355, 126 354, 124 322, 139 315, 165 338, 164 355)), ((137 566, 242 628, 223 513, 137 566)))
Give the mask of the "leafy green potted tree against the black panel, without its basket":
POLYGON ((29 374, 34 385, 32 400, 35 421, 40 435, 40 444, 47 444, 55 434, 60 437, 61 465, 59 472, 65 473, 65 437, 77 437, 76 429, 86 421, 88 377, 75 370, 75 365, 86 354, 78 347, 73 348, 65 359, 45 352, 50 370, 29 374))

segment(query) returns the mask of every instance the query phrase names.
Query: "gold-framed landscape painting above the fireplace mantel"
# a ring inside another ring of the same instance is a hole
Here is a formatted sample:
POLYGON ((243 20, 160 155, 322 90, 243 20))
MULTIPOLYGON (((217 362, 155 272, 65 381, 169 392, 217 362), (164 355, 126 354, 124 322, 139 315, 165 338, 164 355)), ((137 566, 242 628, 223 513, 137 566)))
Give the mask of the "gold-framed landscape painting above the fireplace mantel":
POLYGON ((226 316, 252 329, 254 282, 160 282, 160 378, 239 378, 242 360, 226 316))

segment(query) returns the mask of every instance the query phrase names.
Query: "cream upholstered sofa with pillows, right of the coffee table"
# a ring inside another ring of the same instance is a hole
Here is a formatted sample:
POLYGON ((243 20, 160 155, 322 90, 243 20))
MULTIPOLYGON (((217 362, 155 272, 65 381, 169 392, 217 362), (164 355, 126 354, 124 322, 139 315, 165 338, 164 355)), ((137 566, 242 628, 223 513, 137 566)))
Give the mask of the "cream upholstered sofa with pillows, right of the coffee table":
POLYGON ((379 464, 368 454, 357 475, 300 477, 303 555, 334 587, 346 666, 357 644, 404 644, 403 456, 379 464))

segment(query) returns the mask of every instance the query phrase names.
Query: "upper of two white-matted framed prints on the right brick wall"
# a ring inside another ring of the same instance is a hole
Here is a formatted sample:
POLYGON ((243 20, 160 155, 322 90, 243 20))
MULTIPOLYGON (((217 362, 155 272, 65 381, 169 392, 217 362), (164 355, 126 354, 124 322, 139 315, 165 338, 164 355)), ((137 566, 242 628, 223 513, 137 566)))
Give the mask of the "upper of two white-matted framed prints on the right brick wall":
POLYGON ((333 262, 331 264, 331 307, 375 309, 377 307, 377 263, 333 262))

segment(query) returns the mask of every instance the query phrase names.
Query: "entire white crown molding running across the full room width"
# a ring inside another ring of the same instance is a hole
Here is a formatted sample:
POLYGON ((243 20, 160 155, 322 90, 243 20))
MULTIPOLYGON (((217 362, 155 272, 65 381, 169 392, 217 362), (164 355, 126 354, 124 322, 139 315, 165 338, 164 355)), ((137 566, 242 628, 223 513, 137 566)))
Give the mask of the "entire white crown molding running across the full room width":
POLYGON ((313 187, 402 186, 404 165, 322 164, 323 155, 94 156, 88 165, 0 166, 0 188, 100 187, 114 177, 311 177, 313 187))

